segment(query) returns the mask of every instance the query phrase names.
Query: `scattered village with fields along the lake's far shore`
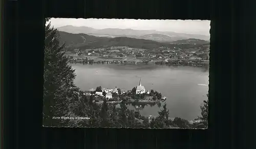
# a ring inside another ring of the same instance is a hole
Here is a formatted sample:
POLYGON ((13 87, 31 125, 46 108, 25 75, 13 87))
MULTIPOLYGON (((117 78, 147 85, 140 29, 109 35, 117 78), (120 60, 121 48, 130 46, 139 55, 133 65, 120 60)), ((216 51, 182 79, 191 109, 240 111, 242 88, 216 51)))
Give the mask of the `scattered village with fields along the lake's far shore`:
POLYGON ((158 65, 209 65, 209 45, 195 48, 159 47, 153 50, 111 47, 67 51, 71 63, 155 63, 158 65))

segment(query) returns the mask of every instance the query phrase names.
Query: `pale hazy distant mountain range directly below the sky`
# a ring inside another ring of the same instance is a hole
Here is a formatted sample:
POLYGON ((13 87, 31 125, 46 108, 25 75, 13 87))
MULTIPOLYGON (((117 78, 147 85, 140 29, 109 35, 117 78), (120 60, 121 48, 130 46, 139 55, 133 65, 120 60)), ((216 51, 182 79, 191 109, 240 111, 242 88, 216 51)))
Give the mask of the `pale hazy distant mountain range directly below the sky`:
POLYGON ((107 29, 94 29, 86 26, 75 27, 75 26, 63 26, 57 28, 59 31, 68 33, 83 33, 98 37, 130 37, 137 39, 148 39, 158 42, 172 42, 176 40, 196 38, 202 40, 209 40, 209 36, 199 35, 199 34, 185 34, 176 32, 160 32, 155 30, 133 30, 133 29, 117 29, 117 28, 107 28, 107 29))

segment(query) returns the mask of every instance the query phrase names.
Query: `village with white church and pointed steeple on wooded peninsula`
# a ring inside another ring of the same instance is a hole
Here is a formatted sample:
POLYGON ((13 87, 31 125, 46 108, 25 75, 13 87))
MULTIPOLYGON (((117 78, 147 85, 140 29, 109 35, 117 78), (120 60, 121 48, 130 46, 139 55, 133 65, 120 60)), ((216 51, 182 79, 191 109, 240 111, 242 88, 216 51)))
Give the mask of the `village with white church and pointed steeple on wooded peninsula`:
POLYGON ((91 98, 92 102, 99 104, 103 103, 104 100, 108 103, 158 103, 166 100, 166 97, 162 97, 161 93, 157 91, 146 91, 141 84, 141 80, 138 86, 129 91, 121 90, 117 87, 115 89, 97 87, 96 89, 84 91, 83 95, 91 98))

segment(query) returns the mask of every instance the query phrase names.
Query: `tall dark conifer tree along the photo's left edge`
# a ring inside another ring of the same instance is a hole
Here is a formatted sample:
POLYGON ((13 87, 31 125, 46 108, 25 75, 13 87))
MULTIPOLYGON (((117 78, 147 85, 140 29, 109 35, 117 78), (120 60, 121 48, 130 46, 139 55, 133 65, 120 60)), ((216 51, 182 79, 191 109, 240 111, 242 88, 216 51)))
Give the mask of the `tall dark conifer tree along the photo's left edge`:
POLYGON ((51 27, 49 18, 45 27, 45 65, 44 65, 44 108, 43 119, 46 126, 66 125, 68 121, 52 120, 53 116, 70 115, 74 110, 72 98, 78 88, 74 85, 75 71, 64 56, 65 45, 60 46, 59 34, 51 27))

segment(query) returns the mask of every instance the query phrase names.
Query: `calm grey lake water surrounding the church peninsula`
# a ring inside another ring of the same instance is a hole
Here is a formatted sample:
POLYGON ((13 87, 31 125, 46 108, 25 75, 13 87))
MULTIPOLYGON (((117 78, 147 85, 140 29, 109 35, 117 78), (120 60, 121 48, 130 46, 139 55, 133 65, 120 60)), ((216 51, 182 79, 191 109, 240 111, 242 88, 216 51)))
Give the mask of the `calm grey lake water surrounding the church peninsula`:
MULTIPOLYGON (((209 83, 208 67, 159 66, 151 65, 117 65, 117 64, 72 64, 75 69, 75 84, 81 90, 115 87, 132 90, 141 84, 146 91, 153 89, 167 97, 165 101, 169 117, 181 117, 194 120, 201 116, 200 105, 207 99, 209 83), (204 85, 206 84, 206 85, 204 85)), ((163 103, 162 103, 163 105, 163 103)), ((135 109, 133 105, 127 105, 135 109)), ((144 116, 157 116, 159 105, 145 105, 140 109, 144 116)))

